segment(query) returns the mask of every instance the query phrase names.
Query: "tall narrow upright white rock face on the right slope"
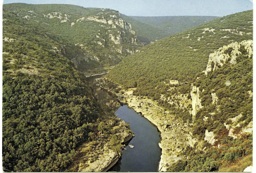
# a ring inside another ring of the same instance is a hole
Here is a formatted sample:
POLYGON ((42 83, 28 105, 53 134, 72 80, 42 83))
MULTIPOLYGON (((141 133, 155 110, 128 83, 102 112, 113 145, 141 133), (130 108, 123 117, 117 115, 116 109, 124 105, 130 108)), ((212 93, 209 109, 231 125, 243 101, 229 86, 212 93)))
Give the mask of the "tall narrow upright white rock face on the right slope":
POLYGON ((194 120, 196 117, 196 113, 199 109, 201 109, 203 106, 201 105, 201 99, 200 99, 200 90, 199 87, 191 85, 191 99, 192 99, 192 119, 194 120))

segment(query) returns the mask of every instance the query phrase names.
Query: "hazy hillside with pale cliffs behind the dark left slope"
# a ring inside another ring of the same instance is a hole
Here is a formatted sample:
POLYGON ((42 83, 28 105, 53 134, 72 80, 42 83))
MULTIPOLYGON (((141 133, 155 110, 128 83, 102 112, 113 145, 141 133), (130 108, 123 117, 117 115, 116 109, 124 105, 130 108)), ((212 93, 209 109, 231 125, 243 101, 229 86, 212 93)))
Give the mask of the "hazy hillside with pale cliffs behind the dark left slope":
POLYGON ((4 4, 3 9, 59 37, 65 56, 75 62, 78 70, 89 74, 117 64, 138 47, 131 25, 115 10, 20 3, 4 4))

